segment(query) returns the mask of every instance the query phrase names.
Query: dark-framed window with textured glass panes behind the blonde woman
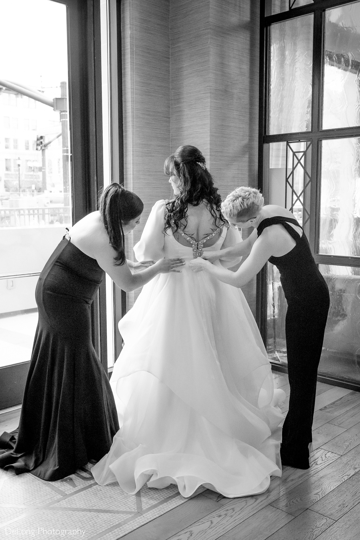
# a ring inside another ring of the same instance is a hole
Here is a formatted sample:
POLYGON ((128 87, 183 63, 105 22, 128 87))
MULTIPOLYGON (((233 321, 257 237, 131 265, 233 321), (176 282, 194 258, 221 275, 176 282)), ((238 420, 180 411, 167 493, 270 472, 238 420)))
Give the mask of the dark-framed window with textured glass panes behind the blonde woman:
MULTIPOLYGON (((319 374, 360 386, 360 1, 265 3, 259 185, 300 222, 329 287, 319 374)), ((260 280, 260 330, 286 365, 279 272, 260 280)))

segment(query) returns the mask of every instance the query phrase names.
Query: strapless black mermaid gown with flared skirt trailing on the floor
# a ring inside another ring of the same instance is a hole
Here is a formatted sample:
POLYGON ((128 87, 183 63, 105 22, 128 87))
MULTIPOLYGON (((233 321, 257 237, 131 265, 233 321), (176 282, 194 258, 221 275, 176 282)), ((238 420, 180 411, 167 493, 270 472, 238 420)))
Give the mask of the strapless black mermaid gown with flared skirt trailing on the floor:
POLYGON ((59 480, 108 453, 119 422, 90 319, 102 277, 98 262, 65 237, 41 272, 19 427, 0 437, 0 467, 59 480))

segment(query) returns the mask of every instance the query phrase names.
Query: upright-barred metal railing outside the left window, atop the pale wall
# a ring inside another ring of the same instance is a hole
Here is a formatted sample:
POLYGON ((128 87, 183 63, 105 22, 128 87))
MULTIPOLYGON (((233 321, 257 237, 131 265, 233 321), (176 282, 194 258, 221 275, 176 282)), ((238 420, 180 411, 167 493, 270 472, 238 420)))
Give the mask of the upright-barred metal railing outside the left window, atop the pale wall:
POLYGON ((70 206, 0 208, 0 227, 37 227, 70 223, 70 206))

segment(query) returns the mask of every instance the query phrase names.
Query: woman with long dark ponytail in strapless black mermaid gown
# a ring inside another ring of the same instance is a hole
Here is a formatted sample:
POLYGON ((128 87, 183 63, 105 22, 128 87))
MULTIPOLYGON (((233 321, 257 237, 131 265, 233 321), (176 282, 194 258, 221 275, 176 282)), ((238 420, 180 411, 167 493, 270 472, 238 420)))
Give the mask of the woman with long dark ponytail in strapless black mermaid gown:
POLYGON ((36 287, 39 322, 19 427, 0 437, 0 467, 59 480, 109 451, 119 423, 92 344, 91 303, 104 271, 133 291, 183 264, 126 260, 124 234, 139 223, 142 210, 135 193, 110 184, 100 211, 74 225, 47 261, 36 287), (139 273, 131 274, 129 267, 139 273))

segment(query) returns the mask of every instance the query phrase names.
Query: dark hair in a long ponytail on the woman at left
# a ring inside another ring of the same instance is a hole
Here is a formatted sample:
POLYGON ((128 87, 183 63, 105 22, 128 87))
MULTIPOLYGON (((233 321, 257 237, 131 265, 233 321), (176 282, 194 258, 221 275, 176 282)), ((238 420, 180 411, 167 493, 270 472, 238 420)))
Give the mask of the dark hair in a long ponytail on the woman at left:
POLYGON ((144 205, 140 197, 132 191, 125 190, 120 184, 110 184, 99 197, 99 210, 110 245, 116 251, 115 265, 126 262, 125 238, 122 224, 126 225, 131 219, 137 218, 143 211, 144 205))

